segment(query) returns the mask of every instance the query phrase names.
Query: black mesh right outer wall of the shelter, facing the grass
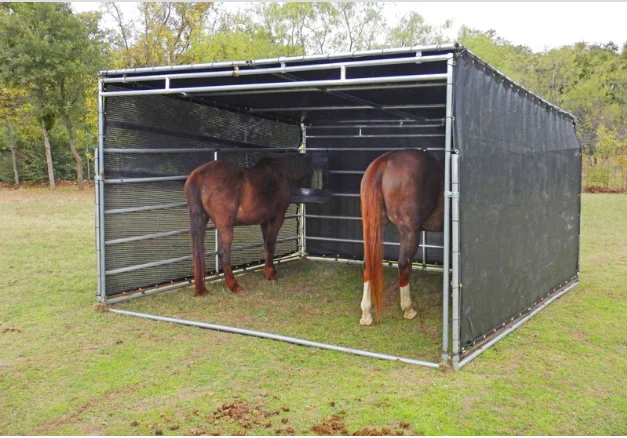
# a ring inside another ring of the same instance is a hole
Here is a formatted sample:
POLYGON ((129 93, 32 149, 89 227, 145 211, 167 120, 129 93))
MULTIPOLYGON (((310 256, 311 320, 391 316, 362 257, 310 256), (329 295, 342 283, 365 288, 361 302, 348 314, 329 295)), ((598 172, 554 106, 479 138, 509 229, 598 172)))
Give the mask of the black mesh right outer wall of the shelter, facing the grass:
POLYGON ((456 61, 464 346, 577 274, 581 151, 570 118, 456 61))

